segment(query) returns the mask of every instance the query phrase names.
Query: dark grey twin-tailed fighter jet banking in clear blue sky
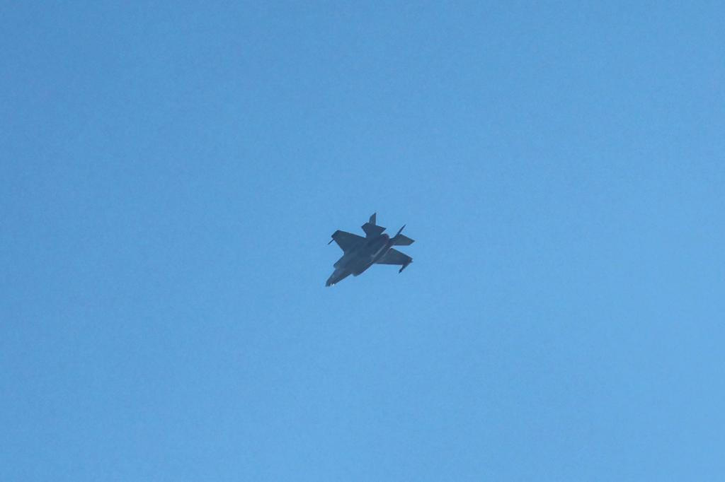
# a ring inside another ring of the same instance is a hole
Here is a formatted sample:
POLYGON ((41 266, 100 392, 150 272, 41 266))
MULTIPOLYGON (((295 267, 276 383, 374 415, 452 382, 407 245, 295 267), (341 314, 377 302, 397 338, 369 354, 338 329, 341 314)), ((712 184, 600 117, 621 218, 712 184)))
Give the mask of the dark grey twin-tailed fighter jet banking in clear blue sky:
POLYGON ((337 260, 333 265, 335 271, 328 278, 325 286, 341 282, 350 274, 357 276, 363 273, 373 264, 396 264, 401 265, 401 273, 406 266, 413 263, 413 258, 401 253, 393 248, 393 246, 412 245, 413 240, 403 234, 400 234, 405 227, 399 229, 397 234, 389 237, 384 234, 385 228, 375 224, 376 213, 370 216, 370 221, 363 224, 365 237, 352 234, 351 232, 340 231, 339 229, 332 234, 331 242, 336 242, 343 251, 342 258, 337 260))

